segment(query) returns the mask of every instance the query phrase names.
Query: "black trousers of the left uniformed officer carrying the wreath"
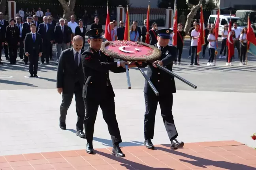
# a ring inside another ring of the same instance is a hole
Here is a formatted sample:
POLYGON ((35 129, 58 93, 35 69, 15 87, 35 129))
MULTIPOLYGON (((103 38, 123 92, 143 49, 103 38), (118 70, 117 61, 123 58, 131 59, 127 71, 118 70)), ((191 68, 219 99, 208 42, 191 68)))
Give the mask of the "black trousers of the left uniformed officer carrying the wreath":
MULTIPOLYGON (((109 91, 111 89, 108 89, 109 91)), ((110 93, 109 93, 110 94, 110 93)), ((112 96, 106 96, 102 100, 95 98, 84 98, 85 103, 85 135, 87 142, 92 144, 94 123, 96 120, 98 108, 102 109, 102 114, 107 128, 111 136, 112 144, 119 144, 122 142, 117 118, 115 115, 115 100, 112 96)))

